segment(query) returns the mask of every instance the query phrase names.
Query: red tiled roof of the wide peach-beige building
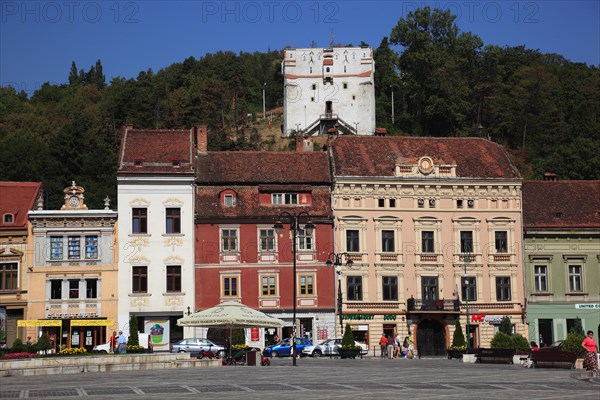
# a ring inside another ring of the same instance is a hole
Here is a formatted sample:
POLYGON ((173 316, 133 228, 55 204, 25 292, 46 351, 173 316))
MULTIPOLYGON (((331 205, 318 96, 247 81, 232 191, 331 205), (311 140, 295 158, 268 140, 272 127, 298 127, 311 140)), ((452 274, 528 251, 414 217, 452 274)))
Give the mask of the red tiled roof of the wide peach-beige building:
POLYGON ((504 149, 481 138, 339 136, 330 149, 335 177, 393 177, 398 162, 429 156, 434 164, 456 165, 458 178, 521 178, 504 149))

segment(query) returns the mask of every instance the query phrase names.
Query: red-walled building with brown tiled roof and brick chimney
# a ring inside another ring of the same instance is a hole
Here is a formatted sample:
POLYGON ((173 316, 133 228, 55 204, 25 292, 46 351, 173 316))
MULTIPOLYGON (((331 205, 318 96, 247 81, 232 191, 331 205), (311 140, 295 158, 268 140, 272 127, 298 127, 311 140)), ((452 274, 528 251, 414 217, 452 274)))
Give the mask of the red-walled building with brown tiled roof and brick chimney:
POLYGON ((285 320, 281 331, 265 333, 269 341, 292 332, 295 301, 298 336, 333 335, 335 280, 325 263, 333 251, 327 154, 303 151, 302 140, 295 153, 207 152, 202 129, 197 142, 196 311, 235 300, 285 320), (312 232, 305 229, 309 222, 312 232))

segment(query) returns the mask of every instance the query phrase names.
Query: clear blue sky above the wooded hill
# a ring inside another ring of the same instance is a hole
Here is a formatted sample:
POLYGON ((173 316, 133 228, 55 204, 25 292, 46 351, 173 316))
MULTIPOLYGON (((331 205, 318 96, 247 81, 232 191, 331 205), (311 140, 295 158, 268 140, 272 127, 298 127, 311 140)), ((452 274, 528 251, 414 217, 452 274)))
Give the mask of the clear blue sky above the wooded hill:
POLYGON ((44 82, 66 82, 72 61, 88 70, 101 60, 110 81, 218 50, 325 47, 332 34, 338 43, 377 47, 422 5, 450 9, 459 28, 485 44, 600 65, 598 0, 0 0, 0 84, 31 94, 44 82))

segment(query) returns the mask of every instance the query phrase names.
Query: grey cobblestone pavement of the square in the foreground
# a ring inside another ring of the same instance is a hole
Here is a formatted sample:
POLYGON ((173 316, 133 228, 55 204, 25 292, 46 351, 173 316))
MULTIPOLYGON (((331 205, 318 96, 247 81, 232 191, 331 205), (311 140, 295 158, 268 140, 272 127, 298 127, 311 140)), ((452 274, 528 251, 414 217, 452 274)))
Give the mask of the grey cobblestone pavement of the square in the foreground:
POLYGON ((577 399, 600 400, 600 378, 569 369, 459 360, 273 359, 229 366, 5 377, 0 399, 577 399))

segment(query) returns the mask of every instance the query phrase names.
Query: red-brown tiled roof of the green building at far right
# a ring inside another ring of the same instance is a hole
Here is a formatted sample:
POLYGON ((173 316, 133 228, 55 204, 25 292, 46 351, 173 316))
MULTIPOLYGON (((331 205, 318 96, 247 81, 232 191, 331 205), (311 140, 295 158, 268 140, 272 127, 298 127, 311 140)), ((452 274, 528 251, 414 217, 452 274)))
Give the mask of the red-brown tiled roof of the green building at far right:
POLYGON ((600 181, 523 182, 523 225, 600 229, 600 181))

